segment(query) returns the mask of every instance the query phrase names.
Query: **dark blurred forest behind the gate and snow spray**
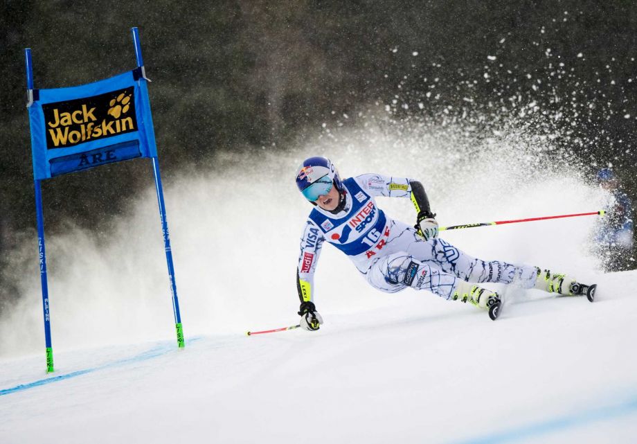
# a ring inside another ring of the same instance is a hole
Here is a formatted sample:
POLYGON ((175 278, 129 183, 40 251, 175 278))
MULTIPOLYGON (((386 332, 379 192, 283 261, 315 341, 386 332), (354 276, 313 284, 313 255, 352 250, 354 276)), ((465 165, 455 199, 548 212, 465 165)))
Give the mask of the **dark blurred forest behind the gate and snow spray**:
MULTIPOLYGON (((635 195, 631 0, 4 0, 0 8, 0 269, 17 245, 33 242, 34 256, 37 248, 24 48, 36 87, 79 85, 134 68, 132 26, 168 180, 214 168, 221 150, 282 149, 373 104, 396 121, 465 119, 476 137, 526 109, 535 115, 523 129, 550 136, 551 149, 591 175, 612 163, 635 195)), ((149 174, 148 162, 129 161, 44 184, 47 234, 68 220, 107 232, 149 174)), ((0 287, 0 301, 10 299, 8 283, 0 287)))

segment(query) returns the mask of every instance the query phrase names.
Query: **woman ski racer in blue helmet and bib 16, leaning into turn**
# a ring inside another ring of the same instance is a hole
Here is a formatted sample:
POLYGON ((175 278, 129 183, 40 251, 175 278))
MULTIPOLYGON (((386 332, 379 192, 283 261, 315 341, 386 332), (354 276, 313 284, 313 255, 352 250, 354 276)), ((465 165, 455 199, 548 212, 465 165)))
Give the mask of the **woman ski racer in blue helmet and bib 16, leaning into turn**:
POLYGON ((325 240, 346 254, 378 290, 427 290, 489 309, 492 319, 499 314, 500 296, 478 283, 514 283, 564 295, 582 294, 587 288, 573 276, 474 258, 438 238, 436 215, 422 184, 414 179, 364 174, 341 180, 330 159, 310 157, 298 168, 296 185, 314 205, 303 228, 296 273, 298 314, 305 330, 319 330, 323 323, 314 304, 314 271, 325 240), (378 196, 411 199, 415 226, 388 217, 376 204, 378 196))

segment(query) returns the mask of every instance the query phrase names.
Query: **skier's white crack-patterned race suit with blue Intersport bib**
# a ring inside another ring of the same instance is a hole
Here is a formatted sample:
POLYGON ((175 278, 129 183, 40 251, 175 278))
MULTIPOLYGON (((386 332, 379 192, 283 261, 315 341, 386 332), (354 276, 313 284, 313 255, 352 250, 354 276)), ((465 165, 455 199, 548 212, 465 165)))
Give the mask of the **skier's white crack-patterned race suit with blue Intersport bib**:
POLYGON ((473 258, 440 238, 425 241, 413 227, 387 217, 375 197, 413 200, 406 177, 366 174, 343 181, 346 204, 333 214, 316 206, 307 217, 300 240, 297 287, 300 300, 314 301, 314 271, 323 242, 343 251, 370 285, 394 293, 412 287, 450 299, 458 279, 512 283, 530 288, 537 269, 473 258))

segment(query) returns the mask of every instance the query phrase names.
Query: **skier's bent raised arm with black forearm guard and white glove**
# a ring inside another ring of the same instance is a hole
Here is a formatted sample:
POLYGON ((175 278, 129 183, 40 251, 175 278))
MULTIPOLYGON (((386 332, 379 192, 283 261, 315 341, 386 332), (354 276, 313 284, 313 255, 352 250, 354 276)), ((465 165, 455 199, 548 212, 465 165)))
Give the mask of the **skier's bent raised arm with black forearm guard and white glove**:
POLYGON ((431 212, 429 198, 424 186, 409 177, 395 177, 378 174, 366 174, 355 177, 357 184, 373 196, 407 197, 411 199, 416 210, 416 224, 414 228, 418 234, 429 240, 438 236, 438 222, 436 215, 431 212))

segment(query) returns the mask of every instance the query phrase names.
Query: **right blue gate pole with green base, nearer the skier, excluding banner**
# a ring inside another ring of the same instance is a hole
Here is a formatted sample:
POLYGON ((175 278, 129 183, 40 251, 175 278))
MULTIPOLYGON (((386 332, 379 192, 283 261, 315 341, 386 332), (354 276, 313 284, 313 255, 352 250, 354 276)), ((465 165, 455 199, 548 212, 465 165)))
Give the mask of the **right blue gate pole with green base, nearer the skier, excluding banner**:
MULTIPOLYGON (((133 33, 133 42, 135 44, 135 57, 137 66, 141 69, 142 78, 140 82, 145 82, 146 73, 144 69, 144 61, 141 56, 141 45, 139 44, 138 29, 131 28, 133 33)), ((152 138, 154 143, 154 136, 152 138)), ((185 342, 183 340, 183 328, 181 326, 181 314, 179 312, 179 299, 177 298, 177 284, 174 281, 174 266, 172 264, 172 249, 170 248, 170 235, 168 234, 168 220, 166 219, 165 204, 163 202, 163 187, 161 186, 161 174, 159 172, 159 160, 152 157, 152 171, 155 177, 155 188, 157 190, 157 202, 159 203, 159 217, 161 217, 161 232, 163 233, 163 245, 166 251, 166 263, 168 264, 168 278, 170 279, 170 293, 172 295, 172 310, 174 312, 174 324, 177 330, 177 345, 183 348, 185 342)))

